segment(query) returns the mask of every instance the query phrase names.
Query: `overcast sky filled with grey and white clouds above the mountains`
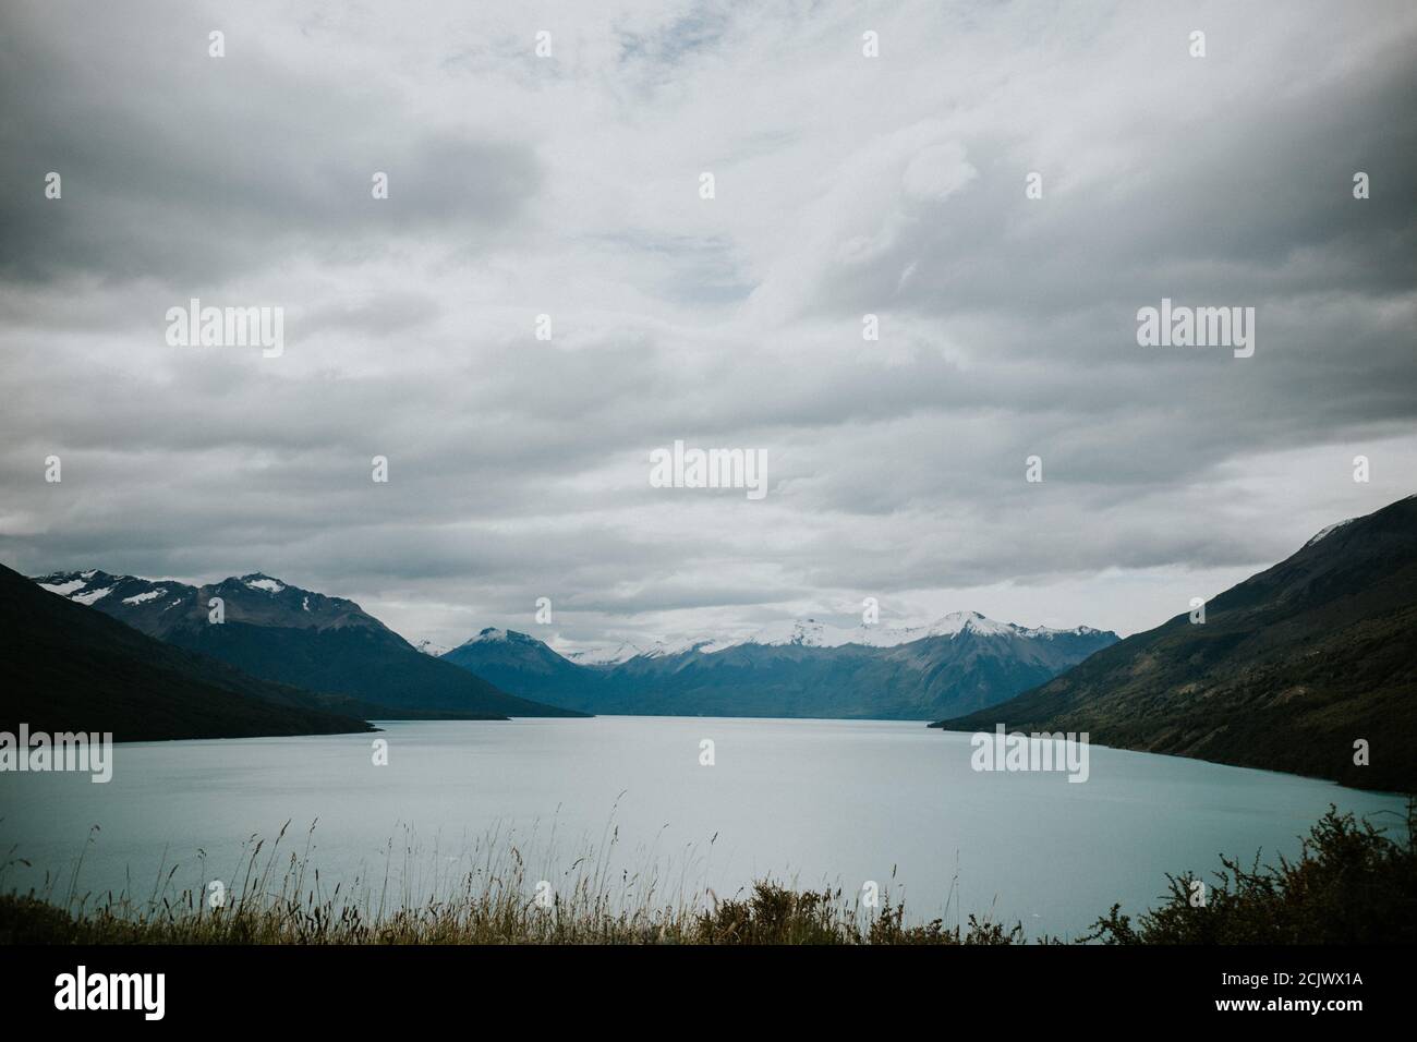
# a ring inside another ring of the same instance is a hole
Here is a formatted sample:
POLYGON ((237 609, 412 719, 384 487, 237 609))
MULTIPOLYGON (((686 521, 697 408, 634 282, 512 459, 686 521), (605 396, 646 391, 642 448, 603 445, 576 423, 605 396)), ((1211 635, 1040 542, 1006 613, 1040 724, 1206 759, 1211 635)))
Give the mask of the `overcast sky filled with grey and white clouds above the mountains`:
POLYGON ((445 644, 1149 628, 1417 491, 1414 52, 1407 0, 6 0, 0 561, 445 644), (283 354, 169 346, 193 296, 283 354), (1254 357, 1139 347, 1163 296, 1254 357), (676 438, 768 495, 650 488, 676 438))

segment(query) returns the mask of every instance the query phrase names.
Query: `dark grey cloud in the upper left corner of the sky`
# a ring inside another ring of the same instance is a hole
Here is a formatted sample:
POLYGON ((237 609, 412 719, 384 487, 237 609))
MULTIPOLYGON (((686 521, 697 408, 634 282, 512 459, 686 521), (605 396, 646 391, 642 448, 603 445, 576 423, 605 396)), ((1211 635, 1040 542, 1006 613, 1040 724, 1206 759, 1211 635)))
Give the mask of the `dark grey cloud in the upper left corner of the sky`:
POLYGON ((393 91, 282 64, 265 34, 232 27, 228 55, 208 57, 208 28, 230 17, 142 4, 13 17, 0 62, 11 278, 200 286, 292 251, 347 264, 397 240, 453 250, 506 228, 540 181, 526 143, 410 121, 393 91), (26 190, 50 170, 62 206, 26 190), (371 197, 374 172, 388 200, 371 197))

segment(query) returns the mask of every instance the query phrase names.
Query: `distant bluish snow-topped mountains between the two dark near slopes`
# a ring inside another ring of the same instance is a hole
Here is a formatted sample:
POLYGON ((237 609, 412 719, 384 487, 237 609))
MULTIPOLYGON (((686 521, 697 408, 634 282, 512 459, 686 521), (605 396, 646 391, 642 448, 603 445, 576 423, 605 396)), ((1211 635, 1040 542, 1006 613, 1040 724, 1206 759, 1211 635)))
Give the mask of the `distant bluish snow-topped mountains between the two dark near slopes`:
POLYGON ((43 590, 251 676, 407 716, 796 716, 930 720, 1002 702, 1117 635, 1024 628, 978 612, 927 627, 785 621, 745 638, 622 644, 563 656, 486 628, 442 651, 415 646, 354 601, 264 573, 207 586, 98 568, 34 580, 43 590), (221 624, 211 621, 221 604, 221 624), (439 654, 441 652, 441 654, 439 654))

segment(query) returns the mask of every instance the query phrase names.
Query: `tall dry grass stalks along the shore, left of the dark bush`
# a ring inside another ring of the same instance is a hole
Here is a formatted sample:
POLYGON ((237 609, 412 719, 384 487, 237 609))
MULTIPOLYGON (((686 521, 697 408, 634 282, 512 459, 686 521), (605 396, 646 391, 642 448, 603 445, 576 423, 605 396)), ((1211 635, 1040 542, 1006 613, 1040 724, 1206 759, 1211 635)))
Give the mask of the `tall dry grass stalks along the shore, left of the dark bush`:
MULTIPOLYGON (((565 865, 546 873, 529 869, 523 845, 493 829, 456 856, 438 844, 425 849, 404 829, 391 838, 383 865, 329 887, 315 865, 312 824, 299 851, 289 851, 290 822, 272 841, 251 836, 228 873, 210 875, 205 851, 197 851, 198 878, 183 887, 177 863, 166 853, 147 896, 129 882, 113 893, 79 890, 89 834, 74 870, 45 876, 27 893, 0 897, 6 917, 20 921, 9 940, 156 944, 863 944, 863 943, 1009 943, 1022 929, 976 921, 945 927, 942 920, 910 924, 904 906, 881 893, 879 909, 847 899, 842 889, 802 890, 795 880, 767 879, 720 897, 691 876, 707 865, 708 851, 687 848, 666 870, 649 856, 639 870, 616 868, 619 829, 606 825, 599 844, 572 858, 555 856, 555 831, 538 865, 565 865), (213 878, 222 883, 220 906, 208 900, 213 878), (239 882, 237 882, 239 880, 239 882), (538 887, 543 893, 538 900, 538 887)), ((537 842, 536 831, 529 844, 537 842)), ((6 875, 26 862, 10 852, 6 875)))

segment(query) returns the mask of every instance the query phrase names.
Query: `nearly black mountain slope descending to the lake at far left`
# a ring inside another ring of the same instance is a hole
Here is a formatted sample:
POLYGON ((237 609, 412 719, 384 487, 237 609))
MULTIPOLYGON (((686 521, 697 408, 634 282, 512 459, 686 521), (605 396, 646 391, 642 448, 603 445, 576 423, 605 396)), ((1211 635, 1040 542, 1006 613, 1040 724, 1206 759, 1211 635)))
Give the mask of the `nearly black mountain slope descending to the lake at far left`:
POLYGON ((115 741, 374 730, 343 700, 247 676, 45 593, 0 566, 0 730, 115 741))

